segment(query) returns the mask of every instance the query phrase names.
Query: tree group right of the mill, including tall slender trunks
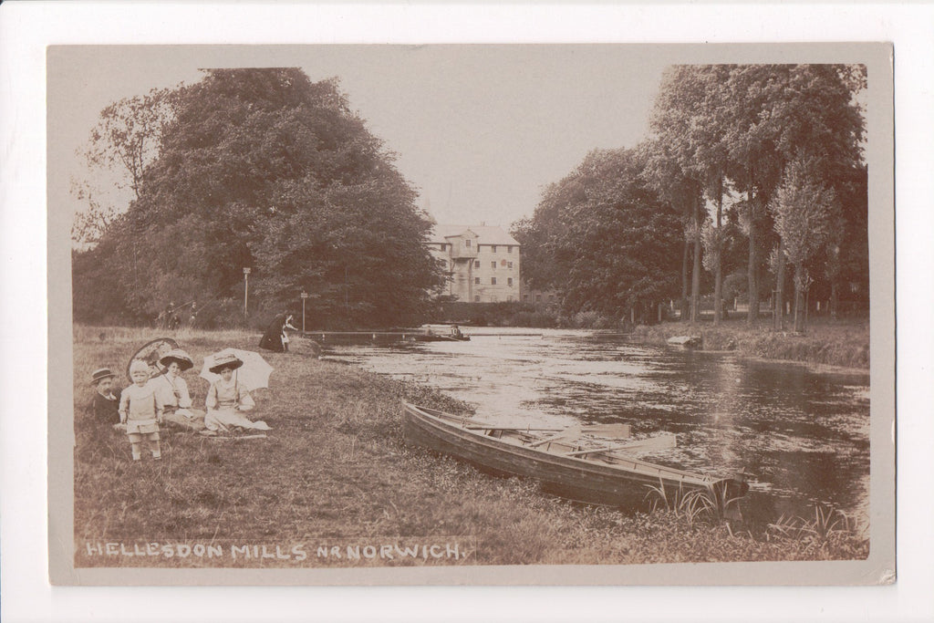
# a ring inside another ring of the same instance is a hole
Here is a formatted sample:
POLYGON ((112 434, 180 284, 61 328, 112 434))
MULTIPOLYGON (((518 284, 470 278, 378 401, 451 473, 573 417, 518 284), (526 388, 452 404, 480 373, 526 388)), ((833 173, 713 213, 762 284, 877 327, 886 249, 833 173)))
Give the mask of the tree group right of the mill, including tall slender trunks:
POLYGON ((776 323, 791 278, 797 329, 809 288, 835 314, 843 284, 868 292, 865 88, 862 65, 672 66, 651 137, 590 153, 516 223, 526 278, 566 311, 679 298, 694 321, 712 277, 715 322, 729 283, 750 322, 774 294, 776 323))

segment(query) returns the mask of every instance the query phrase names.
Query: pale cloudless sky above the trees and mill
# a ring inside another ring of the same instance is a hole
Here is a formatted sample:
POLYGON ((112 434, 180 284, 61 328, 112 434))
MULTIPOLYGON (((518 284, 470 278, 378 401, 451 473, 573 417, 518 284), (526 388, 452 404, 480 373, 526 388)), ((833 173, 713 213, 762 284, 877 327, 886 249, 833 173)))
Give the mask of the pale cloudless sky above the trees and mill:
MULTIPOLYGON (((197 81, 203 67, 300 66, 312 80, 340 79, 439 223, 508 229, 588 151, 644 138, 668 64, 658 50, 618 45, 53 49, 50 94, 66 99, 67 112, 49 121, 50 155, 64 165, 50 187, 83 209, 69 192, 71 177, 89 177, 76 152, 111 102, 197 81)), ((129 200, 126 191, 110 196, 129 200)))

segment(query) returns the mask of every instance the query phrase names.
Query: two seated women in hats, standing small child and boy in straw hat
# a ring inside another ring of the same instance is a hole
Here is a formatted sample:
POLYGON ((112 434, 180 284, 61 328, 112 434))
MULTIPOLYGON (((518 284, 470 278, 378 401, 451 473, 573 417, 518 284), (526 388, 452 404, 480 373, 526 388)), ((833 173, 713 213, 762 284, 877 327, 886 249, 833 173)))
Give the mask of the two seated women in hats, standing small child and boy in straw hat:
POLYGON ((205 410, 193 408, 188 383, 182 376, 194 367, 189 354, 175 348, 163 355, 159 363, 162 371, 152 375, 148 362, 132 361, 129 372, 133 383, 122 391, 114 387, 116 375, 109 368, 100 368, 92 374, 91 383, 96 389, 92 401, 94 416, 111 422, 116 428, 125 428, 134 460, 140 460, 144 443, 149 446, 153 459, 161 459, 159 425, 163 423, 205 436, 269 430, 262 420, 252 421, 244 415, 252 411, 256 403, 249 389, 236 378, 235 371, 243 361, 235 355, 219 355, 208 368, 219 378, 207 389, 205 410))

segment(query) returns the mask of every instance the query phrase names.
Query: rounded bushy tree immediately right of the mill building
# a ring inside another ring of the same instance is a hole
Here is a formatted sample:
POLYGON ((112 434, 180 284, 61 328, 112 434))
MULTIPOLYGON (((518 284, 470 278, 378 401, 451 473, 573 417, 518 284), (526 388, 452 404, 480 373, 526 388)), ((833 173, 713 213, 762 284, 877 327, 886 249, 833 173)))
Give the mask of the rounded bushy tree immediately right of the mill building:
POLYGON ((622 319, 651 318, 677 291, 680 258, 672 246, 680 223, 644 180, 633 150, 595 150, 545 192, 527 240, 553 260, 550 284, 564 311, 596 311, 622 319))

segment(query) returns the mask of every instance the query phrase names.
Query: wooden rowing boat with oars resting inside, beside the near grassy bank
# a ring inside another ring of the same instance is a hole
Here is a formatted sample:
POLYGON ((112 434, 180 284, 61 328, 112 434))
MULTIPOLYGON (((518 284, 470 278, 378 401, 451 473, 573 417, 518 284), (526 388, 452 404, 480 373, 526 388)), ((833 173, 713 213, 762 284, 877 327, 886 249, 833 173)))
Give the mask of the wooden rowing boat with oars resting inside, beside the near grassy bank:
POLYGON ((557 430, 549 439, 539 434, 541 429, 501 428, 408 403, 403 403, 403 421, 409 443, 488 473, 533 478, 545 490, 578 502, 640 509, 650 504, 653 491, 664 490, 668 500, 675 500, 700 490, 719 497, 729 510, 729 501, 742 498, 749 488, 739 479, 692 474, 632 456, 635 449, 673 444, 672 433, 661 435, 661 442, 650 438, 657 441, 582 447, 557 430))

